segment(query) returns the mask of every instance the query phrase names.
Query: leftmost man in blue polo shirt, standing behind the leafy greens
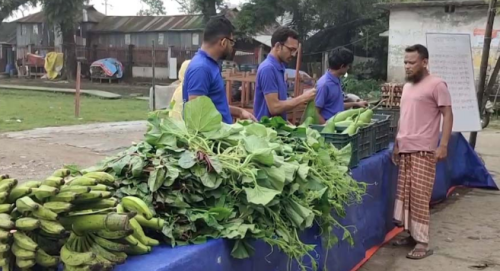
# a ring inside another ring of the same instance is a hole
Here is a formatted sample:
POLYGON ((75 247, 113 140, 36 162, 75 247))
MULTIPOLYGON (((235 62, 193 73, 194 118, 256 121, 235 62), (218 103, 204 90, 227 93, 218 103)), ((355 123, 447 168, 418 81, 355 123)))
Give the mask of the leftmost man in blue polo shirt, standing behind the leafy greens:
POLYGON ((233 117, 256 120, 248 111, 230 106, 222 79, 219 60, 234 56, 234 27, 224 16, 212 18, 205 27, 203 44, 186 70, 182 86, 184 103, 199 96, 207 96, 222 115, 222 121, 233 123, 233 117))

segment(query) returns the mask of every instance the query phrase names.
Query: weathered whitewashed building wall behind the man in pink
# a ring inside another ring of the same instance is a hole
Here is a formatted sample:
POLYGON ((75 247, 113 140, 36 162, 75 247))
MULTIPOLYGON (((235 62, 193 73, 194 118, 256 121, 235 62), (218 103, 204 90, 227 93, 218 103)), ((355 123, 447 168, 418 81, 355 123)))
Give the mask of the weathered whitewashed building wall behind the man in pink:
MULTIPOLYGON (((404 82, 404 50, 413 44, 426 45, 426 33, 467 33, 471 35, 475 75, 479 74, 487 7, 461 7, 454 13, 445 7, 391 10, 389 26, 388 81, 404 82)), ((490 64, 500 51, 500 21, 496 20, 490 64)))

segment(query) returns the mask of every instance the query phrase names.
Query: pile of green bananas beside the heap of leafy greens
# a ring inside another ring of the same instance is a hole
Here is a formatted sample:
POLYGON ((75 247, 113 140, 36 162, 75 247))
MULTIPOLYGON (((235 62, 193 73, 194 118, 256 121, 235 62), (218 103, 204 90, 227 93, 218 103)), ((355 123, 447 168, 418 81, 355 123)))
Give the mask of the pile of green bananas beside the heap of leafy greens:
POLYGON ((112 270, 128 255, 159 242, 142 227, 160 229, 146 203, 112 197, 105 172, 70 177, 68 169, 44 181, 18 184, 0 176, 0 267, 9 270, 112 270), (128 211, 128 212, 127 212, 128 211))

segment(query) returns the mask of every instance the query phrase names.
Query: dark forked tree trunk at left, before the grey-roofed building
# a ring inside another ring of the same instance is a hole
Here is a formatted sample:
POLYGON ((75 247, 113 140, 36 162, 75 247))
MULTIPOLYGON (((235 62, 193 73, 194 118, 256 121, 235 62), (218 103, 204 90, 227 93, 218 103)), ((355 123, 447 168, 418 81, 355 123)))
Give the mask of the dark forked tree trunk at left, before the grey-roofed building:
POLYGON ((49 24, 62 35, 65 76, 73 79, 76 74, 75 25, 82 13, 84 0, 43 0, 42 8, 49 24))

